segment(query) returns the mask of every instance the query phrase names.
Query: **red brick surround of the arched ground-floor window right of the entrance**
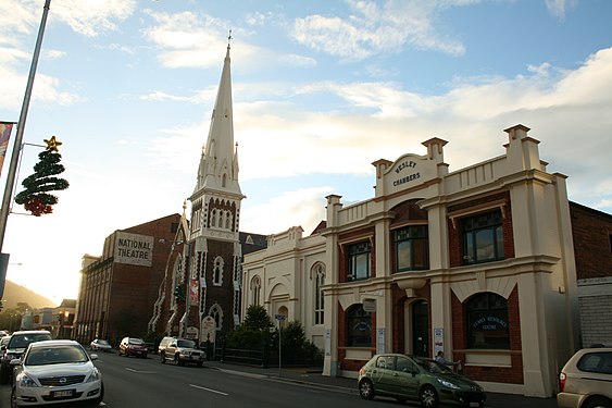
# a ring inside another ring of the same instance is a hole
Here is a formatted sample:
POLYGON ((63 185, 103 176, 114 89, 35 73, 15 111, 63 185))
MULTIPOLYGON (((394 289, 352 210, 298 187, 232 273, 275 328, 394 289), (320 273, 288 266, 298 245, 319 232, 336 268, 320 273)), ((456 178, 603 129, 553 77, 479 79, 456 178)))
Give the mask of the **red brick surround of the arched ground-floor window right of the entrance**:
MULTIPOLYGON (((454 294, 451 295, 452 344, 454 349, 466 349, 465 305, 454 294)), ((475 381, 509 384, 523 384, 523 346, 521 344, 521 316, 519 310, 519 288, 514 288, 508 298, 508 325, 510 335, 511 367, 463 366, 463 373, 475 381)), ((465 361, 465 353, 452 353, 453 360, 465 361)))

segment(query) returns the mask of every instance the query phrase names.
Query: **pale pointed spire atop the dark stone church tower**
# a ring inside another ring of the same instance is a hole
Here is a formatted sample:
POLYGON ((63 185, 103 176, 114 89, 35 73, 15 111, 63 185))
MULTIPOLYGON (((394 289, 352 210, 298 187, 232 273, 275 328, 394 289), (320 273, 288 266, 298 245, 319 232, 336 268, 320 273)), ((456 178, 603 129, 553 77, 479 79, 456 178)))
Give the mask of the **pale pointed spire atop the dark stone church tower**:
MULTIPOLYGON (((228 40, 232 39, 232 33, 228 40)), ((207 144, 202 149, 198 182, 193 196, 221 194, 241 196, 238 184, 238 158, 234 150, 234 112, 232 107, 232 76, 229 71, 229 41, 223 63, 221 83, 211 118, 207 144), (205 190, 205 191, 204 191, 205 190)))

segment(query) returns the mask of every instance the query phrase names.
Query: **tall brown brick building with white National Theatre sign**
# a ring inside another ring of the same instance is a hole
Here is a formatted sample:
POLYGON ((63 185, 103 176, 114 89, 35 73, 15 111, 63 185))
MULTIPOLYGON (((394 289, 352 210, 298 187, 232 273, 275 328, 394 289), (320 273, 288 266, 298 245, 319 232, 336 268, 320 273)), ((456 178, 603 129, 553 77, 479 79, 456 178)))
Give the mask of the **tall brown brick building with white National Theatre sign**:
POLYGON ((83 344, 145 336, 164 277, 179 214, 125 230, 104 239, 102 255, 83 257, 73 336, 83 344))

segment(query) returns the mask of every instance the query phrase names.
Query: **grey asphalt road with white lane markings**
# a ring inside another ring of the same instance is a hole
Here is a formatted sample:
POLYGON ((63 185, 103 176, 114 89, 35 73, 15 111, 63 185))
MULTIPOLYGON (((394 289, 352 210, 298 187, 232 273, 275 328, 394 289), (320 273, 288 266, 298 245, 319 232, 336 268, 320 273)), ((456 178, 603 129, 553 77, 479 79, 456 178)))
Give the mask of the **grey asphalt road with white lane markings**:
MULTIPOLYGON (((354 392, 287 383, 270 376, 213 368, 162 364, 148 359, 99 354, 105 407, 329 407, 388 406, 362 400, 354 392)), ((0 386, 0 406, 10 406, 10 386, 0 386)))

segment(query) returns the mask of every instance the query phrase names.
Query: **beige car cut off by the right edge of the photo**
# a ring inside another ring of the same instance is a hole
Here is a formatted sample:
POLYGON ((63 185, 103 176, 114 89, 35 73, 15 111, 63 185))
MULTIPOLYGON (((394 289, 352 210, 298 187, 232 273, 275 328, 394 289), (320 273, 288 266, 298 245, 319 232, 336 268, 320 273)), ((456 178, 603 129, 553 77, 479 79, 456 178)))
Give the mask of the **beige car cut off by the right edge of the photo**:
POLYGON ((583 348, 559 374, 561 408, 612 408, 612 347, 583 348))

